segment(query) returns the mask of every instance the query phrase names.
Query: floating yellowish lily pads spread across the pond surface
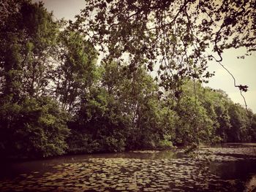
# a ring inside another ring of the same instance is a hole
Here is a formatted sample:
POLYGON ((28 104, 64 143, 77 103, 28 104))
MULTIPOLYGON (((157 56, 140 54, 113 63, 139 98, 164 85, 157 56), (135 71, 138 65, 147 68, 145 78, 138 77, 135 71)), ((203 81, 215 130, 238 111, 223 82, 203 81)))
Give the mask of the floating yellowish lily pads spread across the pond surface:
MULTIPOLYGON (((238 161, 242 158, 230 156, 225 148, 210 150, 211 161, 238 161), (227 155, 217 155, 218 153, 227 155)), ((232 154, 241 154, 238 148, 230 150, 232 154)), ((251 149, 245 151, 243 155, 256 155, 251 149)), ((199 154, 203 153, 201 150, 199 154)), ((13 180, 1 180, 0 191, 243 190, 245 181, 223 180, 203 162, 203 158, 89 158, 83 162, 52 165, 53 172, 34 171, 20 174, 13 180)))

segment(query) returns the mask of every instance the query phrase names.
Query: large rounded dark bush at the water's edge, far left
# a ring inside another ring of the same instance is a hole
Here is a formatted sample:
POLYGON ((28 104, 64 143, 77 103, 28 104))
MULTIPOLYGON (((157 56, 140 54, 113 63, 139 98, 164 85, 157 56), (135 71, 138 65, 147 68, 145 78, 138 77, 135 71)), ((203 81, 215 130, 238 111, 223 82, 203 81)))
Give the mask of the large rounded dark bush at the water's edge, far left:
POLYGON ((1 153, 13 157, 48 157, 65 153, 68 114, 48 97, 4 103, 1 115, 1 153))

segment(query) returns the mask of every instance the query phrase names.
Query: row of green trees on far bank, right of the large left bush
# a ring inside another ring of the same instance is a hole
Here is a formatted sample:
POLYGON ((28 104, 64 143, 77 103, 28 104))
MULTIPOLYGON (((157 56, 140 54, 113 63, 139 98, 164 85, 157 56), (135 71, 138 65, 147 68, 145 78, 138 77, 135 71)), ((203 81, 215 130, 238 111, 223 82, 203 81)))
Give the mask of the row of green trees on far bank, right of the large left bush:
POLYGON ((101 68, 101 84, 83 97, 69 126, 74 135, 68 140, 70 153, 256 139, 253 113, 248 115, 223 91, 187 80, 177 99, 175 92, 159 91, 143 66, 131 76, 127 76, 127 64, 111 62, 101 68))

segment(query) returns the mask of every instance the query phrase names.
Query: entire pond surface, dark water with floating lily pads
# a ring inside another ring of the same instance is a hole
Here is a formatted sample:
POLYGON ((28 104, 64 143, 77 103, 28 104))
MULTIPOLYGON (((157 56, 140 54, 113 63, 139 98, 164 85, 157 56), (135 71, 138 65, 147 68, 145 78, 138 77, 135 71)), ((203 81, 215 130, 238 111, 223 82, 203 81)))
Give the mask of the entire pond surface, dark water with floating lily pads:
POLYGON ((1 163, 0 191, 252 191, 256 144, 1 163))

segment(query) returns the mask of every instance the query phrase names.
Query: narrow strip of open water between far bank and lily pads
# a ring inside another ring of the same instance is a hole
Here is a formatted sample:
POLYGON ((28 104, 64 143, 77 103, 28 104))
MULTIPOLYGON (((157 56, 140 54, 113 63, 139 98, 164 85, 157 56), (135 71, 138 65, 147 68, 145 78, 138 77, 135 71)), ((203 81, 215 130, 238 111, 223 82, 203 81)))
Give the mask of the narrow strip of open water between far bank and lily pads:
POLYGON ((170 159, 183 158, 184 153, 179 150, 163 150, 163 151, 143 151, 124 152, 124 153, 99 153, 86 155, 64 155, 56 158, 48 158, 37 161, 24 161, 1 163, 0 179, 12 178, 19 174, 29 174, 31 172, 54 172, 53 166, 59 164, 72 164, 88 161, 89 158, 139 158, 139 159, 170 159))

